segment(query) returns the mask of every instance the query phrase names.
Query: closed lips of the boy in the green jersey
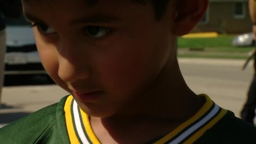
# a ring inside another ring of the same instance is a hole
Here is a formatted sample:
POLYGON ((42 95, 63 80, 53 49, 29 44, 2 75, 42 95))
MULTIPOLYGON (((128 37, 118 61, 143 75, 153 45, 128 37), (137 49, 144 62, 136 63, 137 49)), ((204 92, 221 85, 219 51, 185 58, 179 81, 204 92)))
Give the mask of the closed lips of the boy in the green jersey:
POLYGON ((78 100, 83 102, 89 102, 89 101, 98 99, 100 95, 103 94, 103 91, 94 91, 94 92, 85 92, 85 93, 73 92, 73 94, 74 94, 73 96, 78 100))

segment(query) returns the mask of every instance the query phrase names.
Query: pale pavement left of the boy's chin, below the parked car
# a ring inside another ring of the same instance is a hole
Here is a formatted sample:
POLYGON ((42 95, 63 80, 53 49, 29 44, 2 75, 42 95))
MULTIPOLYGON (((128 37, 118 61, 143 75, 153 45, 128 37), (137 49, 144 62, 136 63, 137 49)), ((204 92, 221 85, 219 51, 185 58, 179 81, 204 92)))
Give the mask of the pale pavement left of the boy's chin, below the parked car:
POLYGON ((4 87, 0 109, 0 127, 59 102, 67 94, 57 85, 4 87))

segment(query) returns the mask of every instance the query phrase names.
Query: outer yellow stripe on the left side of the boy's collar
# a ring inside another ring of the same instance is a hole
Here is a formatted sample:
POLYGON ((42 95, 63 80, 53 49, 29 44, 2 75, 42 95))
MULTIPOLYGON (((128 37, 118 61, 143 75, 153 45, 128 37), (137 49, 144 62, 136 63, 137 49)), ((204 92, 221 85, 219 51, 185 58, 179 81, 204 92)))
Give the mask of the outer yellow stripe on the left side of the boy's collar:
POLYGON ((66 126, 68 131, 68 137, 71 144, 78 144, 79 140, 77 139, 76 132, 74 130, 74 125, 72 121, 72 115, 71 115, 71 102, 73 100, 73 97, 70 95, 65 103, 64 111, 65 111, 65 118, 66 118, 66 126))

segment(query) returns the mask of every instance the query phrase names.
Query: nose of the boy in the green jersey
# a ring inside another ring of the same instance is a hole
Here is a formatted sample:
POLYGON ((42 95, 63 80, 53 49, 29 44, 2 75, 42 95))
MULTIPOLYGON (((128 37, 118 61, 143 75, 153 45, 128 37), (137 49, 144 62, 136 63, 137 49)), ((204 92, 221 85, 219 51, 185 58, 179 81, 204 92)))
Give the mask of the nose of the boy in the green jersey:
POLYGON ((58 46, 58 75, 65 82, 75 82, 90 76, 85 53, 79 51, 75 43, 63 43, 58 46), (75 49, 74 49, 75 47, 75 49))

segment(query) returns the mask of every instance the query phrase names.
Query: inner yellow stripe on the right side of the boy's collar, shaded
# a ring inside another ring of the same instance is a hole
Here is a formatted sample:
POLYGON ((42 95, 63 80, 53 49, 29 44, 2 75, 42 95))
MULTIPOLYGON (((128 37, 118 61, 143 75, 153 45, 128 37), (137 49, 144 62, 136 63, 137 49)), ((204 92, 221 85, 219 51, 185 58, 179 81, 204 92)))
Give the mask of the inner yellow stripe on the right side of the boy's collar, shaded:
POLYGON ((155 142, 155 144, 165 143, 165 142, 169 141, 170 139, 175 137, 175 135, 177 135, 179 132, 181 132, 183 129, 188 127, 191 123, 195 122, 198 118, 202 117, 206 113, 206 111, 208 111, 213 106, 213 101, 207 95, 202 95, 200 97, 205 97, 205 103, 204 103, 203 107, 193 117, 188 119, 188 121, 186 121, 185 123, 178 126, 171 133, 167 134, 164 138, 155 142))

